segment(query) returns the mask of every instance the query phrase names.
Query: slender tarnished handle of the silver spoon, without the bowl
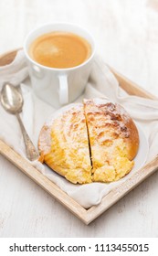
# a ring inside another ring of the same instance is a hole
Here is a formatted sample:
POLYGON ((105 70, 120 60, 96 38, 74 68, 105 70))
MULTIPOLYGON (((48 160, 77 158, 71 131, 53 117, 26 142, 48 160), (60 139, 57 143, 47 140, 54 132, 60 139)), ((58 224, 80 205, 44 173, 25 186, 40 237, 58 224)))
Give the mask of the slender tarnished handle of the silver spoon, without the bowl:
POLYGON ((23 124, 23 122, 20 118, 19 113, 16 113, 16 118, 18 120, 18 123, 20 124, 21 132, 23 134, 24 142, 25 142, 25 145, 26 145, 26 157, 30 161, 37 160, 39 155, 37 153, 37 150, 36 150, 34 144, 31 142, 28 134, 26 133, 26 128, 24 127, 24 124, 23 124))

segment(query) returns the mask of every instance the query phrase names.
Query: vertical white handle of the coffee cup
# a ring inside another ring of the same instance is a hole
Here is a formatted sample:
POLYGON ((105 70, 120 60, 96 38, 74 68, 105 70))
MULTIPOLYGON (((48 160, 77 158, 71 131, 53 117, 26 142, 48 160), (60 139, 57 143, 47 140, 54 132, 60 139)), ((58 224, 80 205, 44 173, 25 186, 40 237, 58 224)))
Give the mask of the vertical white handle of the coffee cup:
POLYGON ((68 77, 67 75, 58 75, 59 80, 59 103, 61 105, 68 103, 68 77))

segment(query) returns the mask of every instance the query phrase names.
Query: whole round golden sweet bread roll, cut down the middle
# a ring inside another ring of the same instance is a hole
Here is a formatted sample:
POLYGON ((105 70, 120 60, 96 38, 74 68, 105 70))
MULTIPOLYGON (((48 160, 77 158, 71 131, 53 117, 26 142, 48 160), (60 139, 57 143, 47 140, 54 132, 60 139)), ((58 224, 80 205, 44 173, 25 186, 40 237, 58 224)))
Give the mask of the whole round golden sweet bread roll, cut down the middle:
POLYGON ((111 182, 132 170, 139 135, 120 105, 84 100, 43 126, 38 147, 43 161, 72 183, 111 182))

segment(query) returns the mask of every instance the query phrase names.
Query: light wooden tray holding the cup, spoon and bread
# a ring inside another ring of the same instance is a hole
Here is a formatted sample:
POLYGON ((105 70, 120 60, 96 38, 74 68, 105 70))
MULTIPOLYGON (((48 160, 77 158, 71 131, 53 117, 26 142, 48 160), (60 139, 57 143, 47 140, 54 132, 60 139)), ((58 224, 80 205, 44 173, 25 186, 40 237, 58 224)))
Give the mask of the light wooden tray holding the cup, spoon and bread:
MULTIPOLYGON (((3 55, 0 58, 0 66, 7 65, 13 61, 16 57, 16 50, 3 55)), ((116 70, 111 69, 115 77, 120 83, 122 89, 127 91, 131 95, 138 95, 148 99, 156 99, 151 93, 144 91, 142 88, 134 84, 131 80, 128 80, 121 76, 116 70)), ((100 216, 104 211, 110 208, 121 197, 124 197, 134 187, 138 186, 145 178, 151 176, 158 168, 158 155, 142 167, 142 171, 138 170, 135 174, 127 179, 120 186, 115 187, 111 192, 102 198, 101 203, 98 206, 93 206, 89 209, 85 209, 79 205, 74 199, 69 197, 53 182, 47 179, 37 171, 35 167, 30 165, 25 158, 18 155, 11 147, 0 140, 0 154, 4 155, 10 162, 16 165, 26 176, 33 179, 40 187, 43 187, 52 197, 55 197, 61 204, 63 204, 68 210, 75 214, 85 224, 89 224, 92 220, 100 216)))

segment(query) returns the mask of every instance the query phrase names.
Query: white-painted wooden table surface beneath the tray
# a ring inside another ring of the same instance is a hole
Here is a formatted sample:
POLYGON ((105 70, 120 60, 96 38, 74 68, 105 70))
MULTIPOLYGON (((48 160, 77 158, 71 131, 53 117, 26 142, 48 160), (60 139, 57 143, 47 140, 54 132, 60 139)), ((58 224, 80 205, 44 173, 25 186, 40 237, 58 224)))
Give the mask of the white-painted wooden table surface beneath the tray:
MULTIPOLYGON (((102 59, 158 96, 157 0, 1 0, 0 54, 53 21, 89 29, 102 59)), ((0 237, 158 237, 157 195, 158 172, 85 226, 0 155, 0 237)))

